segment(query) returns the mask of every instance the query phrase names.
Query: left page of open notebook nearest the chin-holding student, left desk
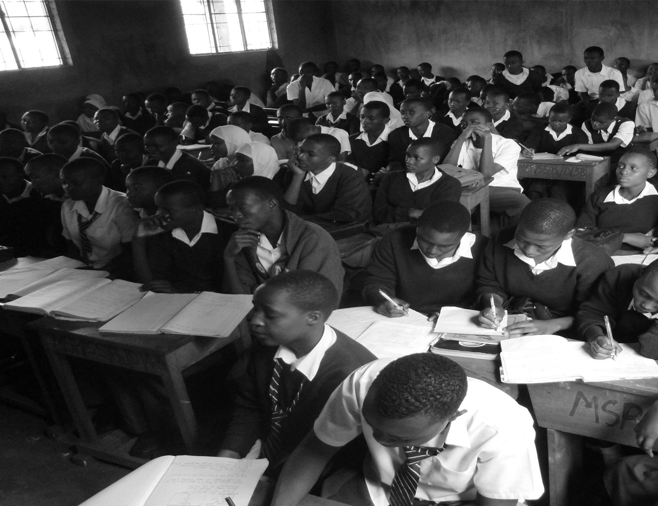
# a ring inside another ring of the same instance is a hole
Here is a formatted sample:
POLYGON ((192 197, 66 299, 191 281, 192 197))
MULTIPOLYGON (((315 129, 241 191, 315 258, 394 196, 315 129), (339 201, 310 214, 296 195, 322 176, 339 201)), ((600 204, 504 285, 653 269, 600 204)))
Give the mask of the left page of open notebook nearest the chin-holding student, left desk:
POLYGON ((101 326, 101 332, 126 334, 156 334, 178 311, 186 307, 196 293, 153 293, 149 291, 142 299, 118 316, 101 326))

